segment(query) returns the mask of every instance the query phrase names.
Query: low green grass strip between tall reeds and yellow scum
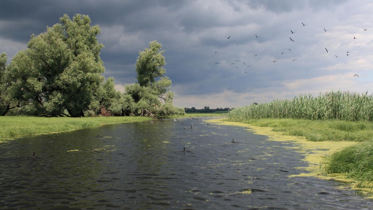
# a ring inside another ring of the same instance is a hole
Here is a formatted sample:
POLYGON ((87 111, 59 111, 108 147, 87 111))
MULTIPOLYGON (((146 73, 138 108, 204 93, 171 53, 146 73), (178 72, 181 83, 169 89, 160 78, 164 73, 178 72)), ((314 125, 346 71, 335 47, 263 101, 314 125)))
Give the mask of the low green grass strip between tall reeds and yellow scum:
MULTIPOLYGON (((229 120, 236 121, 236 120, 229 120)), ((373 140, 373 122, 342 120, 251 119, 239 122, 260 127, 273 127, 284 135, 304 136, 311 141, 373 140)))

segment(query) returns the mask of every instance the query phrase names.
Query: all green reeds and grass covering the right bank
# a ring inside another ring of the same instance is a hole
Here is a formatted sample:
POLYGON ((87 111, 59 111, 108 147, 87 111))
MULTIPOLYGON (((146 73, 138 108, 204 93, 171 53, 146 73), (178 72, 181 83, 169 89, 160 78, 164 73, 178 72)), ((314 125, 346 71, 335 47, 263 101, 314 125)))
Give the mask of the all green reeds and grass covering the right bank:
POLYGON ((356 141, 323 161, 326 173, 342 173, 358 180, 358 186, 373 182, 373 97, 367 93, 327 92, 300 95, 292 100, 235 108, 229 121, 273 127, 284 135, 304 136, 311 141, 356 141))

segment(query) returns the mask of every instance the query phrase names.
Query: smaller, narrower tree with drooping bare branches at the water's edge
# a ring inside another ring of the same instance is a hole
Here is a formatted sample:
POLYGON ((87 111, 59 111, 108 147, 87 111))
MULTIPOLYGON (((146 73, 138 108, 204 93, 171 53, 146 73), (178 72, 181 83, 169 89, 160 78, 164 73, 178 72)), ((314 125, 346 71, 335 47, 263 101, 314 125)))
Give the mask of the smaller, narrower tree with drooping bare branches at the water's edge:
POLYGON ((166 64, 162 45, 151 41, 149 48, 139 52, 136 62, 137 84, 127 85, 125 94, 133 99, 135 114, 166 118, 172 115, 184 114, 182 108, 173 105, 173 92, 170 92, 171 80, 163 76, 166 64))

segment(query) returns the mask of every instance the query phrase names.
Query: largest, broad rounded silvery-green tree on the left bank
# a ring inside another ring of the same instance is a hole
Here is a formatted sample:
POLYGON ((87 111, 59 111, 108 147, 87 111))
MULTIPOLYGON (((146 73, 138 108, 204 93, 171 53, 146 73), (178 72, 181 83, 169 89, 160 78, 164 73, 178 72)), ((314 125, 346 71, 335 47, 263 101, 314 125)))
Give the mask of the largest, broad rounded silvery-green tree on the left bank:
POLYGON ((80 117, 103 82, 98 25, 87 15, 60 18, 62 24, 32 35, 9 65, 13 97, 32 104, 39 115, 80 117))

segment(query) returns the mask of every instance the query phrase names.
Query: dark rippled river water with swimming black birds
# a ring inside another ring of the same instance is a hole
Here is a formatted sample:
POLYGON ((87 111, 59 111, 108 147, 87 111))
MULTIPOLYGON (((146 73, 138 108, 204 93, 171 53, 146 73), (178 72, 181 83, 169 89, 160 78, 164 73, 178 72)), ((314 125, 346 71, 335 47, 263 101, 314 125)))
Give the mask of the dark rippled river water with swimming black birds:
POLYGON ((186 118, 10 140, 0 209, 373 209, 339 183, 288 177, 303 156, 266 139, 186 118))

